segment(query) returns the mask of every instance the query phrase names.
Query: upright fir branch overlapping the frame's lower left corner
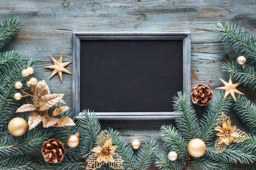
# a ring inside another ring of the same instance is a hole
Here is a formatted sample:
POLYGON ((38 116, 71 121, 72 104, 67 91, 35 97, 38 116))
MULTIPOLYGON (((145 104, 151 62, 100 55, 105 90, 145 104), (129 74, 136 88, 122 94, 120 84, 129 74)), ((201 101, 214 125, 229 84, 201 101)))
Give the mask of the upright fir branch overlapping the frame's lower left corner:
POLYGON ((77 131, 80 133, 79 148, 83 157, 87 158, 92 148, 96 145, 97 135, 100 132, 101 125, 94 113, 88 114, 88 111, 83 110, 83 115, 76 123, 77 131))

